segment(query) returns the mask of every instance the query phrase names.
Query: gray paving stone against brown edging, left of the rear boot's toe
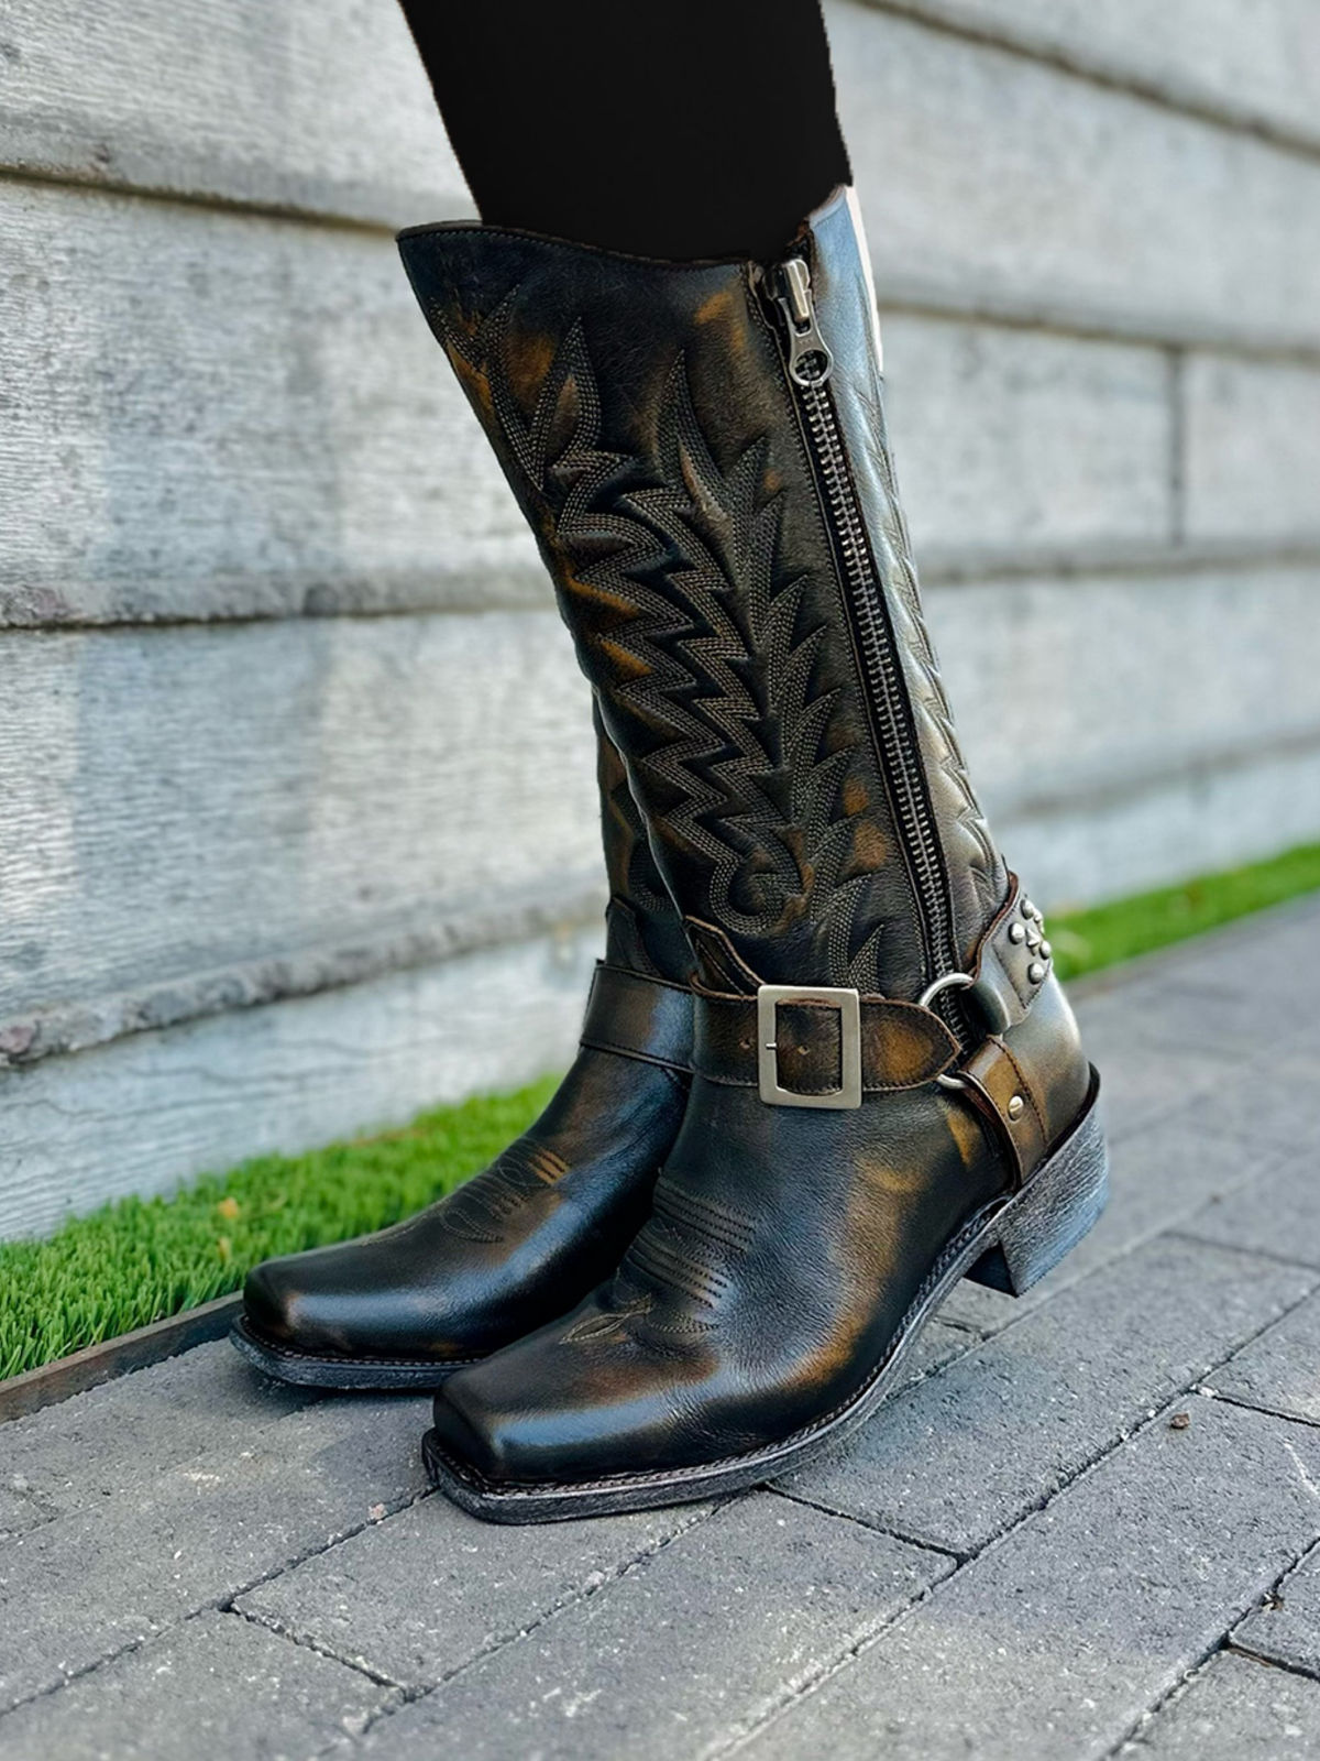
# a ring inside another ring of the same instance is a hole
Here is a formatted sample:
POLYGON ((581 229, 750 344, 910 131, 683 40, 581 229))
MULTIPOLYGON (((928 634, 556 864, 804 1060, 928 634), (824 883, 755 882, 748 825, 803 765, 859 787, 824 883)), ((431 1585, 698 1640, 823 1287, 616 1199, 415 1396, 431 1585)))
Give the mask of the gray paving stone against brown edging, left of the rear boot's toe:
POLYGON ((0 1488, 18 1476, 48 1506, 76 1509, 194 1455, 238 1451, 317 1398, 257 1375, 215 1340, 0 1425, 0 1488))

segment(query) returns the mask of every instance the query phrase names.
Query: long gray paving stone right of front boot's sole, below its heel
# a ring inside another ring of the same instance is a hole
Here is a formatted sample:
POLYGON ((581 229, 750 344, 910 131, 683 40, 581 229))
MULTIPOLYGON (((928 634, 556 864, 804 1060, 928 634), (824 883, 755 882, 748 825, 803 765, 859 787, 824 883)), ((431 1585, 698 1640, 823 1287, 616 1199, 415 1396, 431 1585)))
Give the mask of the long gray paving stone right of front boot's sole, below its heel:
POLYGON ((1311 1287, 1274 1261, 1151 1242, 882 1409, 785 1490, 973 1553, 1311 1287))

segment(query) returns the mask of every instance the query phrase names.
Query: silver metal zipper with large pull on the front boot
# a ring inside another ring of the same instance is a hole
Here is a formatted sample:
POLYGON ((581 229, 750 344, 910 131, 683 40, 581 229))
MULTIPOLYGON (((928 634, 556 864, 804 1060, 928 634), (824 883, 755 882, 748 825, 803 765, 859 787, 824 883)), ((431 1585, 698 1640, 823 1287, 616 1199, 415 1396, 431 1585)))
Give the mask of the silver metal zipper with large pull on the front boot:
MULTIPOLYGON (((785 319, 788 379, 803 407, 817 484, 838 546, 843 586, 852 606, 869 687, 871 724, 917 898, 926 979, 933 981, 957 967, 943 852, 926 787, 903 664, 894 645, 884 588, 871 560, 866 519, 857 504, 834 400, 827 389, 834 359, 817 324, 810 266, 801 257, 788 257, 771 271, 769 285, 785 319)), ((961 1035, 959 1004, 943 993, 938 1006, 961 1035)))

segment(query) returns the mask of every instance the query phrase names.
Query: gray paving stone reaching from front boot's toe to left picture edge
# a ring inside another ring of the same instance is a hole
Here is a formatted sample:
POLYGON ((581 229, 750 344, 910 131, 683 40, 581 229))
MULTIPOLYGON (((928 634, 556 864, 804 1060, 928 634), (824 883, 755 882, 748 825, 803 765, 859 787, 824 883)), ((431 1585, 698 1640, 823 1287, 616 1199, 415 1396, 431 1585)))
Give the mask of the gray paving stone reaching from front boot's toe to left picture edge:
POLYGON ((0 1710, 414 1499, 428 1407, 327 1400, 2 1541, 0 1710))

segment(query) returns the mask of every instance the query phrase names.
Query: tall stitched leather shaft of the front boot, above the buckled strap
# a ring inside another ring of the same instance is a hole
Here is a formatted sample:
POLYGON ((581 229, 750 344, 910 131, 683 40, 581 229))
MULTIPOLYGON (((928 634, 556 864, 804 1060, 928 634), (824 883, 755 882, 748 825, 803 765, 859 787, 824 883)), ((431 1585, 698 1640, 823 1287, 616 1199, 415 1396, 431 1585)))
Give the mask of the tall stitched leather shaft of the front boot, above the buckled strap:
POLYGON ((466 225, 401 252, 704 977, 917 998, 966 969, 1007 879, 920 616, 848 195, 776 266, 466 225))

